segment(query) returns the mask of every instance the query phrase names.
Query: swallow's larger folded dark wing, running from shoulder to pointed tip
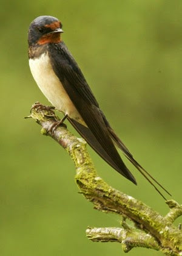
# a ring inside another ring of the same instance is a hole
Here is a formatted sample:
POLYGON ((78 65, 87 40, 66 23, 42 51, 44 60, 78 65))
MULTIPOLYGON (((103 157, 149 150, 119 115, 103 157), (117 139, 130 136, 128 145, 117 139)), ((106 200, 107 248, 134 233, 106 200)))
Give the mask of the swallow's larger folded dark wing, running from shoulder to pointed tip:
MULTIPOLYGON (((78 65, 72 55, 70 55, 65 44, 60 43, 57 44, 56 47, 52 45, 52 47, 49 48, 49 57, 52 59, 53 70, 61 81, 71 101, 75 105, 84 122, 87 124, 89 130, 92 132, 96 141, 98 141, 102 151, 109 156, 109 158, 103 157, 104 160, 106 160, 106 162, 109 162, 108 159, 112 160, 110 161, 112 162, 110 165, 112 165, 116 171, 120 172, 123 176, 136 184, 135 178, 124 165, 123 160, 118 154, 118 151, 110 138, 103 116, 99 111, 98 102, 93 96, 86 79, 84 79, 83 73, 78 68, 78 65), (113 163, 115 163, 115 165, 113 165, 113 163)), ((82 135, 82 132, 78 127, 77 130, 82 135)), ((85 138, 87 140, 87 137, 85 138)), ((90 144, 90 141, 87 141, 90 144)), ((99 149, 94 149, 99 153, 99 149)))

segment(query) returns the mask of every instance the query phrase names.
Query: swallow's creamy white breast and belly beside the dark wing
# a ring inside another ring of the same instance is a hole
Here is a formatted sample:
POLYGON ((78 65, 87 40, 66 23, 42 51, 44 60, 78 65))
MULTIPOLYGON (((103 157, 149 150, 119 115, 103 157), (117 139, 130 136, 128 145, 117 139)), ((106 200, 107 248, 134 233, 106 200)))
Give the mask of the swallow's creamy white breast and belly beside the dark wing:
POLYGON ((39 58, 30 59, 29 65, 38 87, 52 105, 70 117, 80 119, 81 116, 53 72, 48 54, 44 53, 39 58))

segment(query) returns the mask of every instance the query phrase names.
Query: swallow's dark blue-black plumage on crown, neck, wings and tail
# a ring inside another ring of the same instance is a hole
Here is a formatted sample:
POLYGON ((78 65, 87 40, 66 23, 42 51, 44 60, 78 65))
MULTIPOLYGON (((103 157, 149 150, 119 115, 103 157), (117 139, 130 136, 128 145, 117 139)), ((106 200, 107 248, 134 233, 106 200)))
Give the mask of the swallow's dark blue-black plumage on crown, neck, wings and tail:
MULTIPOLYGON (((156 182, 164 191, 169 192, 160 185, 130 154, 129 150, 124 146, 120 138, 110 127, 106 117, 99 108, 98 102, 93 96, 92 90, 86 82, 86 79, 79 69, 77 63, 68 51, 66 45, 60 41, 55 43, 49 41, 42 45, 38 44, 42 35, 50 33, 52 26, 49 24, 57 24, 58 19, 52 16, 40 16, 36 18, 29 28, 29 58, 35 59, 44 52, 49 54, 50 63, 53 71, 60 80, 60 86, 64 87, 73 105, 78 110, 79 115, 83 118, 84 126, 78 123, 78 120, 68 117, 70 123, 75 129, 85 138, 85 140, 92 146, 92 148, 109 163, 116 171, 120 172, 124 177, 136 184, 136 180, 127 169, 123 160, 121 159, 115 144, 123 151, 124 155, 133 163, 133 165, 141 172, 141 174, 150 182, 150 184, 161 194, 158 188, 150 180, 156 182), (39 32, 39 27, 43 27, 43 32, 39 32), (113 143, 115 142, 115 144, 113 143)), ((62 26, 61 23, 60 27, 62 26)), ((53 32, 51 30, 51 32, 53 32)), ((57 31, 55 31, 57 32, 57 31)), ((163 196, 163 194, 161 194, 163 196)), ((163 196, 164 197, 164 196, 163 196)), ((165 197, 164 197, 165 199, 165 197)))

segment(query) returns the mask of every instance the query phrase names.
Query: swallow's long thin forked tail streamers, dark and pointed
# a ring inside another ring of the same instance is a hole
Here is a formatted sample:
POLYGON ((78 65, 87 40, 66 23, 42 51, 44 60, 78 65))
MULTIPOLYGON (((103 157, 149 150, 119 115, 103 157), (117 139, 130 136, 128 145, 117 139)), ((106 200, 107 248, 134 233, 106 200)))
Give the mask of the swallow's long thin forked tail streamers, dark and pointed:
POLYGON ((147 172, 138 162, 136 162, 136 160, 133 158, 132 154, 129 152, 129 150, 126 148, 126 146, 124 146, 123 142, 120 140, 120 138, 118 138, 116 136, 115 132, 109 126, 109 123, 107 123, 107 129, 109 130, 110 137, 112 138, 113 141, 115 141, 118 148, 120 148, 121 151, 123 151, 123 153, 127 157, 127 159, 136 167, 136 169, 138 169, 138 171, 140 171, 140 173, 148 180, 148 182, 155 188, 155 190, 158 191, 158 193, 164 198, 164 200, 166 200, 166 197, 163 196, 161 191, 158 190, 158 188, 155 186, 155 184, 153 182, 157 183, 157 185, 159 187, 161 187, 167 194, 169 194, 169 196, 171 196, 171 194, 166 190, 166 188, 164 188, 156 179, 154 179, 149 174, 149 172, 147 172), (149 179, 149 177, 150 177, 150 179, 153 180, 153 182, 152 182, 152 180, 149 179))

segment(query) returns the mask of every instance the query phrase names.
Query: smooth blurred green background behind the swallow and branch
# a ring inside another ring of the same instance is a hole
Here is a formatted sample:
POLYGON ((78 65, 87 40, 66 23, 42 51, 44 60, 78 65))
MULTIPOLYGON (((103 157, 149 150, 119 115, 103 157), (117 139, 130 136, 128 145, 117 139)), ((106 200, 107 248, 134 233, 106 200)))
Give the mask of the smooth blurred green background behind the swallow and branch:
MULTIPOLYGON (((24 119, 35 101, 48 104, 27 57, 27 30, 39 15, 62 21, 62 38, 110 124, 181 203, 181 9, 181 0, 1 2, 1 255, 124 255, 120 244, 87 240, 87 226, 120 227, 120 217, 93 210, 78 194, 69 155, 24 119)), ((133 166, 137 187, 89 151, 106 182, 167 213, 133 166)))

